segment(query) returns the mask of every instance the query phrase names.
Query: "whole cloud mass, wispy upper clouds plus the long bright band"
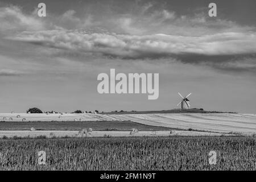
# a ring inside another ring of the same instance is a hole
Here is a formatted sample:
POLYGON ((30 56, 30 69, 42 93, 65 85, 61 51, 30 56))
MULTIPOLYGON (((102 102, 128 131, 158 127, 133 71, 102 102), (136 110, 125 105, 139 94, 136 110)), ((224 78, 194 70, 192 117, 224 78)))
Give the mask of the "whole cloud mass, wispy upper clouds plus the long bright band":
POLYGON ((1 7, 0 21, 6 39, 46 47, 47 52, 57 50, 59 55, 155 61, 170 58, 220 70, 255 71, 255 27, 211 20, 202 13, 177 15, 152 3, 134 14, 98 18, 68 10, 50 14, 47 20, 24 14, 16 6, 1 7))

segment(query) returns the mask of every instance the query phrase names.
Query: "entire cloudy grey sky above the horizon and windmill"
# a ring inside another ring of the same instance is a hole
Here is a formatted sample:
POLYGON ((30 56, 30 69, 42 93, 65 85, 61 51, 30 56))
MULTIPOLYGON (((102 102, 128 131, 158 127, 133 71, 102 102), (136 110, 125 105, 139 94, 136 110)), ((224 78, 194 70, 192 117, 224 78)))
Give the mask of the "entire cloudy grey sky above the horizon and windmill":
POLYGON ((0 0, 0 113, 168 110, 256 114, 255 1, 0 0), (46 3, 46 17, 37 14, 46 3), (159 98, 99 94, 97 76, 159 73, 159 98))

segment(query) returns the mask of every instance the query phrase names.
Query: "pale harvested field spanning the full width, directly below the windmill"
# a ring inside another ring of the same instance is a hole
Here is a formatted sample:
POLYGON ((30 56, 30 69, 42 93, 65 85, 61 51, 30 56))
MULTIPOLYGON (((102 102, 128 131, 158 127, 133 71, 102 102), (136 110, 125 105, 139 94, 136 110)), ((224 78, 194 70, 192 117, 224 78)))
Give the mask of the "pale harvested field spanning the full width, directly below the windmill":
MULTIPOLYGON (((181 114, 24 114, 1 113, 0 121, 29 122, 29 121, 73 121, 73 122, 102 122, 118 123, 131 121, 142 125, 168 127, 170 129, 212 131, 218 133, 242 133, 253 135, 256 133, 256 114, 235 113, 181 113, 181 114), (17 118, 16 116, 20 117, 17 118), (5 118, 5 119, 3 119, 5 118), (10 118, 12 121, 10 121, 10 118), (22 119, 24 119, 22 121, 22 119)), ((40 125, 43 125, 40 123, 40 125)), ((74 125, 76 125, 74 123, 74 125)), ((99 123, 100 125, 100 123, 99 123)), ((3 125, 2 125, 3 126, 3 125)), ((72 126, 71 130, 74 129, 72 126)), ((95 126, 96 127, 96 126, 95 126)), ((111 126, 114 127, 114 126, 111 126)), ((1 127, 2 128, 2 127, 1 127)), ((67 128, 67 127, 66 127, 67 128)), ((114 127, 115 128, 115 127, 114 127)), ((96 130, 96 129, 94 129, 96 130)), ((166 129, 164 129, 166 130, 166 129)))

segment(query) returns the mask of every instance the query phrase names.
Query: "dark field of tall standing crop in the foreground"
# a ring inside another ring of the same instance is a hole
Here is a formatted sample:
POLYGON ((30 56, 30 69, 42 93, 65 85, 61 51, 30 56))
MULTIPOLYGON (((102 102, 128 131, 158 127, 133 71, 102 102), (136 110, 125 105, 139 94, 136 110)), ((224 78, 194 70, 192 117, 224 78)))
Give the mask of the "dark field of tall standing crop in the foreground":
POLYGON ((255 138, 245 137, 1 139, 0 152, 0 170, 256 170, 255 138))

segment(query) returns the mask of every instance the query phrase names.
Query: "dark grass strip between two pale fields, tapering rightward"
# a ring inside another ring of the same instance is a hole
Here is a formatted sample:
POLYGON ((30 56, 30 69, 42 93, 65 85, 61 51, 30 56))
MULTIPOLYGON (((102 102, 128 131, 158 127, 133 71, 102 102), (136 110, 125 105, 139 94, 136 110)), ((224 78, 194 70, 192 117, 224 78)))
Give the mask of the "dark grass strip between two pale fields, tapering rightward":
POLYGON ((30 130, 31 127, 36 130, 81 130, 83 128, 92 128, 97 131, 130 131, 133 128, 143 131, 172 130, 168 127, 143 125, 130 121, 0 122, 0 130, 30 130))

